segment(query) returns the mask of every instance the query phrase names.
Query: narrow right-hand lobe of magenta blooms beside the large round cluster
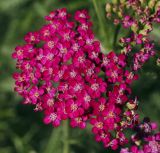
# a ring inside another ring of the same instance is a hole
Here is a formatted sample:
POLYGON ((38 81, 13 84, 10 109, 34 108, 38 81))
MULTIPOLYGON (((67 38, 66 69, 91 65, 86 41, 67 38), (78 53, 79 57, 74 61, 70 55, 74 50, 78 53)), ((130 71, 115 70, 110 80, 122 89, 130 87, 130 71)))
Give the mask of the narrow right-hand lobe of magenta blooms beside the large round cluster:
POLYGON ((105 147, 117 149, 128 143, 124 130, 132 128, 138 122, 137 100, 131 98, 131 83, 138 75, 126 70, 127 56, 110 52, 102 54, 100 67, 105 76, 108 89, 105 98, 93 103, 93 116, 90 123, 96 141, 102 141, 105 147), (113 135, 113 132, 115 135, 113 135))

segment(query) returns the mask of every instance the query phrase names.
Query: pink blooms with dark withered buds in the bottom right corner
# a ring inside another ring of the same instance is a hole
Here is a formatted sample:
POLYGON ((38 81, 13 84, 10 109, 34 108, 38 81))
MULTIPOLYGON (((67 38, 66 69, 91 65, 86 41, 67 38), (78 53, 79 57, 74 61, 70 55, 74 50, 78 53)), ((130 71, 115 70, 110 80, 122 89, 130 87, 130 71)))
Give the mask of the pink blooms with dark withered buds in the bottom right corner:
POLYGON ((156 129, 157 124, 145 118, 142 123, 135 126, 136 134, 131 136, 133 146, 130 149, 122 149, 120 153, 159 153, 160 133, 156 133, 156 129))

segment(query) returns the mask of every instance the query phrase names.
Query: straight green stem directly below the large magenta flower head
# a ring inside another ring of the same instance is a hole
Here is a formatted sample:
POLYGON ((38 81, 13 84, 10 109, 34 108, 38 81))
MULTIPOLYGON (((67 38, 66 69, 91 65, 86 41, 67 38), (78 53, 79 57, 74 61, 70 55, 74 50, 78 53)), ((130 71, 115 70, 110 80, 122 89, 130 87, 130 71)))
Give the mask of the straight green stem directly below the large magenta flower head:
POLYGON ((69 144, 69 121, 66 120, 63 122, 63 153, 69 153, 70 152, 70 144, 69 144))

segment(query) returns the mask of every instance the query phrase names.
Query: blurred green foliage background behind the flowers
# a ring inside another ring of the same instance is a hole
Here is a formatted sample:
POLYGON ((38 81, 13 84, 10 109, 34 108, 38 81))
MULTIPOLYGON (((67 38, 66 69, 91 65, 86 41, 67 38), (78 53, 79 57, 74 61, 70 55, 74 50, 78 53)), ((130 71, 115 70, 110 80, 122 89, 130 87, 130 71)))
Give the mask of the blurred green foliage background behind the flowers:
MULTIPOLYGON (((39 29, 44 24, 44 16, 61 7, 66 7, 70 13, 88 9, 104 51, 116 49, 116 27, 105 18, 106 2, 0 0, 0 153, 67 153, 67 143, 70 144, 69 153, 112 152, 94 141, 89 127, 84 131, 67 129, 66 125, 54 129, 42 123, 41 113, 34 113, 31 106, 22 105, 21 97, 13 91, 15 61, 11 59, 14 47, 23 43, 23 36, 28 31, 39 29)), ((159 30, 157 26, 152 33, 156 42, 160 38, 159 30)), ((160 49, 158 43, 157 49, 160 49)), ((141 117, 149 116, 160 123, 160 68, 155 63, 156 60, 152 59, 144 66, 133 89, 141 101, 141 117)))

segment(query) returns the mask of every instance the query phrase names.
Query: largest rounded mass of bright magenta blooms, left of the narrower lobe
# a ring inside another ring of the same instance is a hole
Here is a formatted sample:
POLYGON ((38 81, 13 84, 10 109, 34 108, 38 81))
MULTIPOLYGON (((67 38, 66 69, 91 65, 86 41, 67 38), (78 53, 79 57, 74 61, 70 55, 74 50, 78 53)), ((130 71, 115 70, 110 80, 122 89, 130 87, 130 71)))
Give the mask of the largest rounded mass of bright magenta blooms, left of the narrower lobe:
POLYGON ((13 75, 15 90, 55 127, 69 118, 72 127, 85 128, 90 104, 107 88, 97 76, 100 43, 94 40, 90 17, 82 10, 74 18, 66 9, 51 12, 45 17, 49 24, 29 32, 26 44, 12 55, 21 70, 13 75))

